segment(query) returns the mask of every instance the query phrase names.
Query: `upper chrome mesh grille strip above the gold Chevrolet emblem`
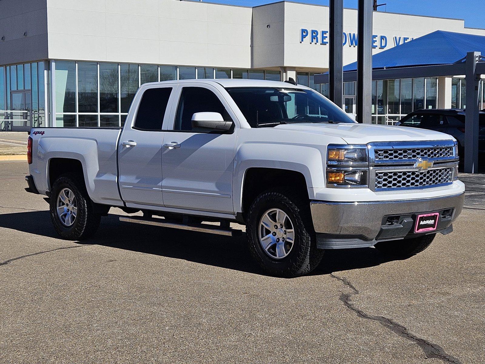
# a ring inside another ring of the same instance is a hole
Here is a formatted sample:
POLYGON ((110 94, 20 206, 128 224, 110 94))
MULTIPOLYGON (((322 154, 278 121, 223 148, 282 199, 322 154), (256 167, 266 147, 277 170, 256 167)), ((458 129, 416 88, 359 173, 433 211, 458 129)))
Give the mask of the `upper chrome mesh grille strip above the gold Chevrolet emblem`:
POLYGON ((406 161, 418 158, 450 158, 453 147, 374 149, 376 161, 406 161))

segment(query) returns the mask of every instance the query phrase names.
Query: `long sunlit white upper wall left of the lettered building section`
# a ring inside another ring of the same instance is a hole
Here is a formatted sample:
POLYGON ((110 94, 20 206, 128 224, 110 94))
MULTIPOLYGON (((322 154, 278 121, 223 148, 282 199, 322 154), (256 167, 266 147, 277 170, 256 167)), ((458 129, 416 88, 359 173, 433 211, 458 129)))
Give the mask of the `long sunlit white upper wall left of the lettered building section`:
POLYGON ((175 0, 47 0, 49 58, 250 67, 252 9, 175 0))

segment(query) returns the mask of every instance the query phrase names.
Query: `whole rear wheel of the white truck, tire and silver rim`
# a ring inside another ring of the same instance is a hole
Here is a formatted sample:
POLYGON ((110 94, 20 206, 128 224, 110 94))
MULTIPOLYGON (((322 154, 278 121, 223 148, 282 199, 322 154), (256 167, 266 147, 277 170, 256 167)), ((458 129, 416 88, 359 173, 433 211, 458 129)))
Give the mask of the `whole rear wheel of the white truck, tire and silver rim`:
POLYGON ((52 185, 50 218, 63 239, 82 240, 97 231, 101 215, 95 213, 84 181, 74 174, 65 174, 52 185))

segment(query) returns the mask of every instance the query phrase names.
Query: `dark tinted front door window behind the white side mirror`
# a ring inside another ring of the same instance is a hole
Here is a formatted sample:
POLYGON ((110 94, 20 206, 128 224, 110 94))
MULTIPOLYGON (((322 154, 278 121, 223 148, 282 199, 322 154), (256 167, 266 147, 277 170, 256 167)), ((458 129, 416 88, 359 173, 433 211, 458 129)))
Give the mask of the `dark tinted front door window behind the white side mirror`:
POLYGON ((184 87, 178 101, 174 130, 195 131, 192 116, 195 113, 213 112, 222 115, 224 120, 232 120, 221 100, 204 87, 184 87))

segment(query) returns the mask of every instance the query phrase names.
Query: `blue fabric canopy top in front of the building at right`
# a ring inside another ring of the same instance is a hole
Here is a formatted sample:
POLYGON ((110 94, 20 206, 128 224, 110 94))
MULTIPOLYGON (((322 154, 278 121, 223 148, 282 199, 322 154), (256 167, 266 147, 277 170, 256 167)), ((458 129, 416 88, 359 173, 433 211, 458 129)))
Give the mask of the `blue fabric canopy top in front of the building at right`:
MULTIPOLYGON (((435 31, 372 56, 372 68, 445 65, 454 63, 467 52, 485 54, 485 36, 435 31)), ((356 71, 357 62, 343 67, 356 71)))

